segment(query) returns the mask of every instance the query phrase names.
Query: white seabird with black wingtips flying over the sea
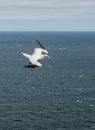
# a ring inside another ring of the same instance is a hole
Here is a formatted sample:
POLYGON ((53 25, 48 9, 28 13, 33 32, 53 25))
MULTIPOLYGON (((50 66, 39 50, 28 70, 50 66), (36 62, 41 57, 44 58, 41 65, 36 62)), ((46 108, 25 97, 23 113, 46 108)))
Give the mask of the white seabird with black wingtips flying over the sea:
POLYGON ((24 67, 27 67, 27 68, 41 67, 42 64, 39 61, 49 57, 48 51, 45 49, 45 47, 38 40, 36 41, 40 45, 41 48, 35 48, 34 53, 32 55, 22 52, 22 55, 28 58, 30 61, 30 63, 24 67))

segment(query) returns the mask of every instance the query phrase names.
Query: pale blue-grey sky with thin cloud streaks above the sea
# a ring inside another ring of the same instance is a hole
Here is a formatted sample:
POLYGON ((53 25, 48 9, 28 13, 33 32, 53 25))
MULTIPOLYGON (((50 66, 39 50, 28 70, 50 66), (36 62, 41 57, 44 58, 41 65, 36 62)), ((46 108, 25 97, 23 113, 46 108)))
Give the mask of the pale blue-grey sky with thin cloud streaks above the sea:
POLYGON ((0 31, 95 31, 95 0, 0 0, 0 31))

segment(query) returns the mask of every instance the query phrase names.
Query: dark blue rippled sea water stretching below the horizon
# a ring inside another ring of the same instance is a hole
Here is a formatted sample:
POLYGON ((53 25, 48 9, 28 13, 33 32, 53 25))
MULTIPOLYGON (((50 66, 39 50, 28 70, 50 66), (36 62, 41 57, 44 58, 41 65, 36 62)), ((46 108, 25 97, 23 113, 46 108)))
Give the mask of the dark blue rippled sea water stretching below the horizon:
POLYGON ((0 130, 95 130, 95 32, 0 32, 0 130))

